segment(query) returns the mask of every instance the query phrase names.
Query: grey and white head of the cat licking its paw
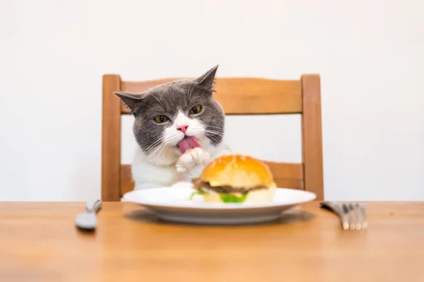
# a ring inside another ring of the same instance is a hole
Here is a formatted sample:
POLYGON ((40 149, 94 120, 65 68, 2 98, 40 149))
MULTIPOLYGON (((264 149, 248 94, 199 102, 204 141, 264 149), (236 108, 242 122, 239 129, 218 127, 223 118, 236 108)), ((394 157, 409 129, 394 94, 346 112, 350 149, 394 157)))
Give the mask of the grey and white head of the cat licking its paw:
POLYGON ((155 86, 144 93, 115 93, 134 115, 134 136, 146 155, 177 158, 183 139, 194 136, 202 147, 218 146, 225 115, 213 100, 216 69, 196 79, 155 86))

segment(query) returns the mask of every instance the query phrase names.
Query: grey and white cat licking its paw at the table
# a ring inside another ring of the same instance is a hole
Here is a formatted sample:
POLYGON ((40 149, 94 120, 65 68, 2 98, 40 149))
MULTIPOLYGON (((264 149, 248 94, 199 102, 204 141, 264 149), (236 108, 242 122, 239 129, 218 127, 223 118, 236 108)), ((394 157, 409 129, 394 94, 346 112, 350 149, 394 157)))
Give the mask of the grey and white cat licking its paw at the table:
POLYGON ((134 115, 139 145, 131 165, 134 189, 187 183, 211 160, 230 153, 225 114, 212 95, 217 69, 139 94, 115 93, 134 115))

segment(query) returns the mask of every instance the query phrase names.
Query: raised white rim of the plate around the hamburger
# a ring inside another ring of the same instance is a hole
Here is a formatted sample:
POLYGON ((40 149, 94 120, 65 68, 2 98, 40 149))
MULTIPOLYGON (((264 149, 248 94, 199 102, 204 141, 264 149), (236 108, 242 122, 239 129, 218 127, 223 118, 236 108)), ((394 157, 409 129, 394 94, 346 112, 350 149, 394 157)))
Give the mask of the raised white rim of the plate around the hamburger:
POLYGON ((283 187, 277 187, 278 190, 285 190, 285 191, 294 191, 294 192, 300 192, 305 193, 309 197, 309 199, 302 199, 300 201, 292 201, 290 203, 278 203, 278 202, 269 202, 269 203, 204 203, 199 202, 199 204, 193 204, 193 205, 174 205, 174 204, 163 204, 163 203, 155 203, 152 201, 132 201, 131 199, 128 199, 131 194, 136 194, 139 192, 143 192, 146 190, 153 190, 153 189, 193 189, 192 187, 155 187, 155 188, 146 188, 146 189, 137 189, 130 192, 126 192, 122 196, 122 201, 128 201, 133 204, 139 204, 146 207, 158 207, 158 208, 184 208, 184 209, 218 209, 218 210, 225 210, 225 209, 246 209, 246 208, 273 208, 273 207, 279 207, 279 206, 295 206, 298 204, 307 203, 309 201, 314 201, 314 199, 317 199, 317 194, 310 191, 300 190, 300 189, 290 189, 290 188, 283 188, 283 187))

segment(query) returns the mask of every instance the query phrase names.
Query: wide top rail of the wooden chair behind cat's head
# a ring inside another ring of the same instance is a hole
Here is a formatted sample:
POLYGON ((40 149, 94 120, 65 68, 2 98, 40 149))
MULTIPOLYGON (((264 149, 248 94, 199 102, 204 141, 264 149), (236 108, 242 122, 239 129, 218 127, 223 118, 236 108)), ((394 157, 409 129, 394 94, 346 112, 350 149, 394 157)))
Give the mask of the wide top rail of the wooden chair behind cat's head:
MULTIPOLYGON (((122 91, 141 93, 153 86, 173 81, 122 82, 122 91)), ((214 98, 225 114, 293 114, 302 112, 300 81, 281 81, 264 78, 217 78, 214 98)), ((129 109, 122 103, 123 114, 129 109)))

